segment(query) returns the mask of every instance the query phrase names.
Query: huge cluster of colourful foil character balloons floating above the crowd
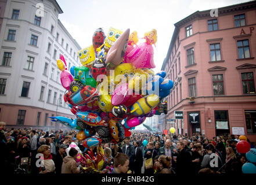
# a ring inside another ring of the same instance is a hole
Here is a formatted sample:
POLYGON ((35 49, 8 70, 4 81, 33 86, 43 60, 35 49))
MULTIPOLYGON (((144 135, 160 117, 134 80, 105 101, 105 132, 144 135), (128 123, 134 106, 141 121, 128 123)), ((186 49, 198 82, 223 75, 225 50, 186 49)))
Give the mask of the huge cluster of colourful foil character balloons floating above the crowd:
POLYGON ((78 131, 84 147, 100 143, 119 143, 130 136, 130 129, 146 117, 167 114, 167 102, 174 83, 164 71, 154 73, 157 31, 146 32, 138 43, 136 31, 130 34, 110 28, 107 35, 96 29, 92 45, 78 51, 82 66, 67 71, 65 58, 57 60, 60 81, 66 89, 64 101, 75 119, 51 117, 78 131))

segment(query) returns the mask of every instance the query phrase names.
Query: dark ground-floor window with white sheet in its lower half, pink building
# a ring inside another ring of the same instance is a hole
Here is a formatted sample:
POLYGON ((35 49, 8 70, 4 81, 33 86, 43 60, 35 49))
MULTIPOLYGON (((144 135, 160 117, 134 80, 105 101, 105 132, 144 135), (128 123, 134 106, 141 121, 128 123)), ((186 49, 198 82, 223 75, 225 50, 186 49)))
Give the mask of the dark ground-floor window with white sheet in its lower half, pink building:
POLYGON ((215 128, 216 135, 223 135, 229 132, 229 115, 228 110, 215 110, 215 128))

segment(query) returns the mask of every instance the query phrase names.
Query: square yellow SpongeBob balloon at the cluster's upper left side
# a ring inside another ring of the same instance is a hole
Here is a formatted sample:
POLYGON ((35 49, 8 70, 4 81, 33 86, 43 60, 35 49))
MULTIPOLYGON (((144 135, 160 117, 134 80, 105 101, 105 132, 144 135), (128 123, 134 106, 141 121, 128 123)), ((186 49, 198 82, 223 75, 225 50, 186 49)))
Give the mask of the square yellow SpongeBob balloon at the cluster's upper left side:
POLYGON ((93 46, 91 45, 78 51, 78 57, 83 66, 91 67, 93 61, 95 61, 95 51, 93 50, 93 46))

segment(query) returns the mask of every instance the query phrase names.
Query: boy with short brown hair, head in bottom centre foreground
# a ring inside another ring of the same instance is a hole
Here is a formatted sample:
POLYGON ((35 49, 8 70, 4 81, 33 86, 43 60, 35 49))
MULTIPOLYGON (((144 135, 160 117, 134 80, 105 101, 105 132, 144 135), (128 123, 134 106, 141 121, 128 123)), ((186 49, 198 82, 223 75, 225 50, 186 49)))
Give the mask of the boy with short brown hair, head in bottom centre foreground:
POLYGON ((129 169, 129 157, 127 154, 118 153, 114 158, 114 169, 111 173, 127 173, 129 169))

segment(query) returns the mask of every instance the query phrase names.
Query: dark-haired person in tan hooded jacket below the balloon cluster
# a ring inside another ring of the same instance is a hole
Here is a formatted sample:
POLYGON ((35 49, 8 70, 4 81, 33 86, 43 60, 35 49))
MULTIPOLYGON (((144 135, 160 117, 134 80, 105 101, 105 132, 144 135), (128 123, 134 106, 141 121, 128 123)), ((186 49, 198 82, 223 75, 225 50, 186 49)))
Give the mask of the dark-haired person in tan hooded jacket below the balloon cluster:
POLYGON ((68 152, 69 156, 63 158, 62 173, 80 173, 81 168, 77 166, 75 159, 77 158, 78 151, 71 148, 68 152))

